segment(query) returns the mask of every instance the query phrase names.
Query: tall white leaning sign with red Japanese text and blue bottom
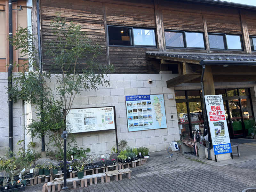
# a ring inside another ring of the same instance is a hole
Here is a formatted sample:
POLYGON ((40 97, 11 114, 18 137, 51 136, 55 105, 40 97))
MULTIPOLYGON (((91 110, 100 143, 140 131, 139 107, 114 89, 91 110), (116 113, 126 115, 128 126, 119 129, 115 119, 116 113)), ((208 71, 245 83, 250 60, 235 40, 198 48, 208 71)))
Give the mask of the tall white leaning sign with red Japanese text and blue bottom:
POLYGON ((222 95, 205 95, 204 99, 214 154, 232 153, 222 95))

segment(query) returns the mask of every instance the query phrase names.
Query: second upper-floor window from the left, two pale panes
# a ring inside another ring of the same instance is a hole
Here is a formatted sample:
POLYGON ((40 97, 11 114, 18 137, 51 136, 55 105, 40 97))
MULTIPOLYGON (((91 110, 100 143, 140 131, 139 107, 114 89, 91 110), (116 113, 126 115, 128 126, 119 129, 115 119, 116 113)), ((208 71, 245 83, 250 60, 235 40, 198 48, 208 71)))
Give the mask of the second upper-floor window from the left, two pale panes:
POLYGON ((164 31, 166 47, 204 49, 204 35, 198 32, 164 31))

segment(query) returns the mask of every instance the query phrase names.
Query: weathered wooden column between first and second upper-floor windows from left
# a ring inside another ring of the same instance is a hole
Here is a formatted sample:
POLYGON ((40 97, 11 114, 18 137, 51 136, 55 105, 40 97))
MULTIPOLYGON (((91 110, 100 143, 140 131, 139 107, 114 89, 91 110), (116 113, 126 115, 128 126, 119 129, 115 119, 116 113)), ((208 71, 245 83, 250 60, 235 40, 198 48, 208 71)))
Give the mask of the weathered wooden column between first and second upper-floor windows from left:
POLYGON ((154 0, 154 9, 155 9, 155 18, 156 18, 157 47, 159 51, 166 51, 163 14, 162 14, 162 9, 159 6, 158 0, 154 0))

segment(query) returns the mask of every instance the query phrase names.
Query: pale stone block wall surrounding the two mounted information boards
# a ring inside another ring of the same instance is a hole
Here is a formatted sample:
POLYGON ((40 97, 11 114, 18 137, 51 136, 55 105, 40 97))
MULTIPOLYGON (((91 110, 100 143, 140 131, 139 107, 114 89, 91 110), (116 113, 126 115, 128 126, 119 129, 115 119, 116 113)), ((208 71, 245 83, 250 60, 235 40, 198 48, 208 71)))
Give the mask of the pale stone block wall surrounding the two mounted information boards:
MULTIPOLYGON (((166 80, 173 78, 170 71, 163 74, 113 74, 106 78, 110 81, 110 86, 99 86, 98 90, 82 92, 80 96, 76 96, 71 108, 116 106, 118 141, 127 140, 131 147, 145 146, 150 151, 159 151, 166 149, 173 140, 180 140, 175 99, 167 98, 168 94, 174 96, 174 88, 166 86, 166 80), (153 80, 152 84, 148 84, 148 79, 153 80), (167 128, 128 132, 125 95, 140 94, 164 94, 167 128)), ((56 89, 55 78, 51 79, 50 84, 56 89)), ((36 113, 32 114, 35 118, 36 113)), ((40 140, 33 140, 37 142, 36 150, 40 151, 40 140)), ((91 154, 109 153, 116 145, 114 130, 79 133, 76 134, 76 140, 79 147, 90 148, 91 154)), ((48 144, 49 138, 45 138, 45 142, 48 144)))

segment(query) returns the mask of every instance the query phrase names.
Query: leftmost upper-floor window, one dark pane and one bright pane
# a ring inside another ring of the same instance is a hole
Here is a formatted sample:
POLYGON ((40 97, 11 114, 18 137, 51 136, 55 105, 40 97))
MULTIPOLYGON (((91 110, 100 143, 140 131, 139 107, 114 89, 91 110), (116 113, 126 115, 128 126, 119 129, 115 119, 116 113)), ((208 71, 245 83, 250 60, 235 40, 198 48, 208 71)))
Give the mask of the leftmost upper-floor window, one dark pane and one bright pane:
POLYGON ((108 26, 109 45, 156 46, 155 29, 108 26))

